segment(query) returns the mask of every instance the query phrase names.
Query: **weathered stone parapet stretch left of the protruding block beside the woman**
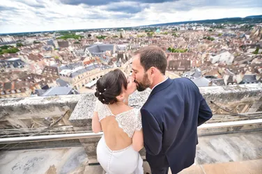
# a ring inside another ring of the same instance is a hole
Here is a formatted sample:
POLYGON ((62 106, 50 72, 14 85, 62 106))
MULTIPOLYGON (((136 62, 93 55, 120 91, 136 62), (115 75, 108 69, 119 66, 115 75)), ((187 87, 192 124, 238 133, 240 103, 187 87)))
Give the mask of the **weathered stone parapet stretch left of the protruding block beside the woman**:
POLYGON ((31 119, 61 116, 65 109, 71 111, 81 95, 57 95, 49 97, 24 97, 0 100, 0 120, 9 118, 31 119))

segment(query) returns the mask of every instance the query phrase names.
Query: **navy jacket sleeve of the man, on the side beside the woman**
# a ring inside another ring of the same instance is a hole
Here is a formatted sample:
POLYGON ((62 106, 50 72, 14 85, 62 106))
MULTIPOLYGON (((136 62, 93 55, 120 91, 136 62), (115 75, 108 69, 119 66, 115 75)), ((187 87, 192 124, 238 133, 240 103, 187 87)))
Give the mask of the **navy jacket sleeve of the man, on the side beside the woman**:
POLYGON ((150 155, 158 155, 162 150, 162 130, 152 113, 141 109, 144 146, 150 155))

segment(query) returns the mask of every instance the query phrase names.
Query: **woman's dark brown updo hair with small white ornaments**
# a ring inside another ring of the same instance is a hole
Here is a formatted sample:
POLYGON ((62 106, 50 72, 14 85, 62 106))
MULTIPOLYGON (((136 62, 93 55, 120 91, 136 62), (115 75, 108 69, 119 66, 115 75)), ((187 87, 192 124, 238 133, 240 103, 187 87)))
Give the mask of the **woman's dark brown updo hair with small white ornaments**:
POLYGON ((117 102, 116 97, 122 93, 122 89, 126 90, 127 87, 125 74, 119 69, 112 70, 96 82, 95 97, 98 97, 102 104, 113 104, 117 102))

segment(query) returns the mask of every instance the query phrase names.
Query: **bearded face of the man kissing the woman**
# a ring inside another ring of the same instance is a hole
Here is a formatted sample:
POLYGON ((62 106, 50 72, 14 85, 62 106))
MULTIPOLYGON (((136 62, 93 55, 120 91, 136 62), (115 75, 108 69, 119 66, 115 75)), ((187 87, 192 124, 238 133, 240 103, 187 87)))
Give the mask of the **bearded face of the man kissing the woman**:
POLYGON ((137 84, 138 91, 146 90, 146 88, 151 86, 151 81, 148 79, 148 72, 145 72, 144 67, 141 65, 139 55, 133 58, 132 76, 137 84))

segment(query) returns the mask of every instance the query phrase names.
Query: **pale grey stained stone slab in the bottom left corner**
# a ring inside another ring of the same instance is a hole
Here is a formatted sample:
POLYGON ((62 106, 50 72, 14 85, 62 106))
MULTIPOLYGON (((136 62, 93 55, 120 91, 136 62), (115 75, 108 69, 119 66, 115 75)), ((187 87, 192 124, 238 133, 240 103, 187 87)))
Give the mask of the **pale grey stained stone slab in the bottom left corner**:
POLYGON ((0 173, 84 173, 88 158, 84 148, 55 148, 0 152, 0 173))

